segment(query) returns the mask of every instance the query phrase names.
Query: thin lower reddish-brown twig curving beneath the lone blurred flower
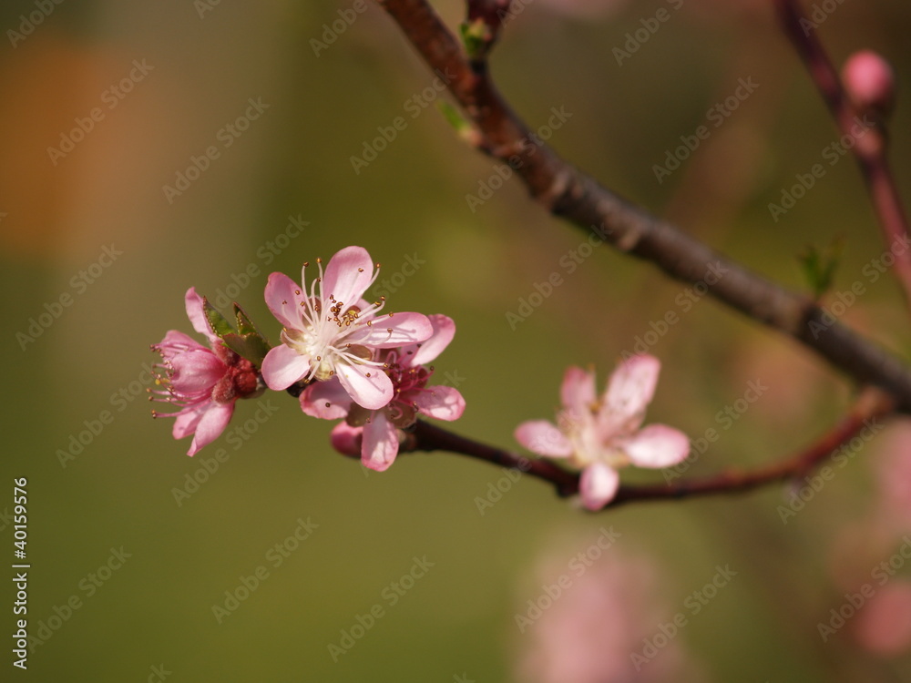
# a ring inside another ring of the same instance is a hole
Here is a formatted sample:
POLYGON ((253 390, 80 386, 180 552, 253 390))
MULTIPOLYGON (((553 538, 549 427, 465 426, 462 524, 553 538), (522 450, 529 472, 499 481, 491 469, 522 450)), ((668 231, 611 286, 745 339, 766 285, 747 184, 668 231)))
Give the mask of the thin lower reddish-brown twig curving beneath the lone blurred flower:
MULTIPOLYGON (((616 497, 602 509, 609 509, 633 501, 680 500, 693 496, 736 494, 751 491, 766 484, 785 482, 809 474, 826 458, 834 454, 843 443, 853 439, 877 418, 892 413, 894 402, 883 392, 868 390, 854 408, 832 430, 802 451, 778 463, 749 472, 729 470, 701 479, 681 481, 677 484, 621 485, 616 497)), ((876 433, 878 430, 871 430, 876 433)), ((530 474, 554 484, 560 496, 578 494, 579 474, 558 467, 549 460, 528 459, 486 443, 479 443, 446 431, 435 424, 418 421, 414 432, 402 444, 402 452, 449 451, 468 455, 501 467, 530 474)))

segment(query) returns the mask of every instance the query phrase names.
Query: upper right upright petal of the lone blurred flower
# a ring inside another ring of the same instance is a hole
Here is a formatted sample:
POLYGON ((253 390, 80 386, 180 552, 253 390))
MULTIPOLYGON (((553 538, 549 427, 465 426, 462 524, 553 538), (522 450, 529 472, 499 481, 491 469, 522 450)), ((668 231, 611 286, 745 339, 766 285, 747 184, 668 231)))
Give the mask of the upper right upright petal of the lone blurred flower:
POLYGON ((630 432, 639 427, 646 406, 655 395, 660 361, 641 354, 621 362, 610 375, 599 412, 599 426, 609 433, 630 432))

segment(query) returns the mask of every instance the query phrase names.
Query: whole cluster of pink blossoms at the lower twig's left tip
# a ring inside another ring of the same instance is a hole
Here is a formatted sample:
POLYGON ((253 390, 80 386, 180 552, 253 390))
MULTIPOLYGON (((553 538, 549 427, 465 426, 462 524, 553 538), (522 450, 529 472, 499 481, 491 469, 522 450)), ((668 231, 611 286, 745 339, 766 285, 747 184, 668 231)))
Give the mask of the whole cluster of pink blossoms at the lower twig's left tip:
MULTIPOLYGON (((385 312, 384 297, 365 300, 379 268, 362 247, 339 251, 325 270, 317 259, 316 267, 309 290, 309 263, 303 264, 300 285, 283 273, 270 275, 265 301, 281 322, 281 343, 259 356, 241 355, 255 348, 251 336, 264 343, 258 332, 236 333, 195 290, 187 292, 187 315, 209 347, 169 331, 152 349, 162 357, 158 382, 165 388, 155 392, 157 398, 180 408, 156 414, 176 418, 175 438, 194 434, 189 455, 224 431, 237 399, 265 387, 302 388, 304 413, 343 420, 333 429, 335 448, 359 454, 378 471, 393 464, 403 430, 419 415, 462 415, 465 400, 455 388, 428 386, 434 370, 427 363, 452 341, 455 323, 445 315, 385 312), (225 327, 216 329, 213 320, 225 327)), ((241 314, 239 331, 246 321, 241 314)))

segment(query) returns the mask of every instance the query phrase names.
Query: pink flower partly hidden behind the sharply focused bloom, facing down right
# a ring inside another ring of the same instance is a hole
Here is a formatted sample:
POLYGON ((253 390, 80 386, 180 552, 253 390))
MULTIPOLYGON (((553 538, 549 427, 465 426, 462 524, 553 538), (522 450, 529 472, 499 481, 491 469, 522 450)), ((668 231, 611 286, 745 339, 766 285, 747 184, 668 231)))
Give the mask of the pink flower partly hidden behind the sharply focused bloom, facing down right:
MULTIPOLYGON (((333 429, 333 446, 346 455, 361 455, 365 467, 382 472, 393 464, 399 448, 399 429, 410 427, 418 414, 438 420, 457 420, 465 399, 455 388, 427 386, 433 361, 455 336, 455 322, 445 315, 428 316, 433 332, 424 343, 383 352, 380 363, 393 386, 393 398, 379 410, 353 403, 340 378, 311 384, 301 394, 304 413, 326 420, 345 418, 333 429)), ((381 371, 383 372, 383 371, 381 371)))

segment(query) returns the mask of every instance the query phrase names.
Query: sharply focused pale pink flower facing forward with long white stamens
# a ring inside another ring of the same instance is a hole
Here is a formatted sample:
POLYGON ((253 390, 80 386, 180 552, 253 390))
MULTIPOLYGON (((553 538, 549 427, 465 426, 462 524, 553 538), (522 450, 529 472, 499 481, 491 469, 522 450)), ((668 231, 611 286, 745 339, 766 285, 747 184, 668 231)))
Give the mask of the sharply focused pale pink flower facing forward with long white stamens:
POLYGON ((364 291, 376 280, 370 254, 346 247, 329 260, 306 293, 307 263, 302 287, 280 272, 266 284, 266 304, 284 329, 281 344, 262 362, 262 377, 270 389, 287 389, 300 380, 337 377, 354 403, 368 410, 382 408, 393 398, 393 383, 375 359, 380 349, 423 342, 430 321, 420 313, 384 313, 385 301, 368 303, 364 291))

